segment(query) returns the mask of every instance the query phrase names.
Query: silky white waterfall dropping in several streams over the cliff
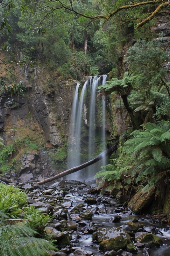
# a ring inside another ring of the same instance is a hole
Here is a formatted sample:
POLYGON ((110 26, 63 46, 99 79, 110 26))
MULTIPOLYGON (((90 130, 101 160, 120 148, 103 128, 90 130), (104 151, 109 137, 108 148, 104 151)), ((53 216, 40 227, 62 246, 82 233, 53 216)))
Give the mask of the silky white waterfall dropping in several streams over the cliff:
MULTIPOLYGON (((95 76, 93 79, 89 78, 83 85, 79 103, 78 88, 80 84, 76 86, 70 123, 68 169, 92 159, 105 150, 105 100, 103 97, 102 100, 97 99, 96 88, 101 84, 105 84, 106 78, 107 75, 95 76), (96 103, 101 113, 97 113, 96 103), (99 114, 100 121, 96 120, 96 116, 99 116, 99 114), (98 131, 96 131, 96 127, 98 131), (100 152, 96 153, 97 138, 100 140, 100 152), (88 154, 85 153, 87 150, 88 154)), ((100 165, 89 166, 88 170, 83 171, 84 175, 82 175, 81 171, 78 171, 67 175, 67 180, 92 179, 96 172, 99 171, 100 166, 105 164, 106 159, 103 158, 100 165)))

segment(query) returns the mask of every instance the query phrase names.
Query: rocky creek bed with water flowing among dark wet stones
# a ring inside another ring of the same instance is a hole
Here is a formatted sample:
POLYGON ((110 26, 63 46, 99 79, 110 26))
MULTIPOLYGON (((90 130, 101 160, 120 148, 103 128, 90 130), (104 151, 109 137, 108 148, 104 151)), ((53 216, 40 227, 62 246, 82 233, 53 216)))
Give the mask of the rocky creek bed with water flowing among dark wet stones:
POLYGON ((46 227, 59 243, 53 256, 170 255, 170 226, 133 215, 113 196, 100 195, 95 183, 61 180, 18 186, 28 192, 29 204, 54 215, 46 227))

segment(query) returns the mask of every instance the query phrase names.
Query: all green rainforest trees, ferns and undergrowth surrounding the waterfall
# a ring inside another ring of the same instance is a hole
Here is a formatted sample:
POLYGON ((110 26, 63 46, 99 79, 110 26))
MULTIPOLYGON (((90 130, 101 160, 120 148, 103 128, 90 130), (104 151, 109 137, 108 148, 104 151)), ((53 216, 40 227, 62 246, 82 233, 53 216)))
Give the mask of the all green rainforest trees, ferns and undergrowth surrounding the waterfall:
MULTIPOLYGON (((99 188, 121 188, 124 194, 130 191, 127 200, 133 189, 145 193, 154 188, 158 213, 163 211, 170 181, 170 57, 167 35, 153 28, 158 20, 170 23, 169 14, 166 0, 0 0, 1 95, 9 88, 11 95, 24 94, 25 81, 20 82, 17 75, 20 68, 42 68, 51 77, 41 88, 44 94, 55 91, 60 81, 70 77, 80 81, 84 76, 109 73, 98 93, 115 107, 124 106, 131 127, 117 134, 117 152, 96 174, 99 188)), ((3 173, 17 166, 13 155, 18 147, 24 147, 22 142, 1 146, 3 173)), ((36 150, 40 142, 29 137, 24 143, 36 150)), ((27 204, 25 194, 18 190, 22 205, 16 196, 13 202, 12 189, 0 186, 0 197, 6 193, 11 198, 4 197, 0 203, 1 252, 4 256, 27 255, 34 246, 36 255, 43 255, 42 249, 53 249, 53 245, 43 240, 41 247, 37 246, 37 232, 42 233, 51 217, 26 208, 26 226, 5 226, 5 218, 18 217, 27 204), (15 207, 11 208, 8 200, 15 207), (36 214, 37 221, 44 221, 43 227, 36 222, 36 214), (25 243, 30 239, 32 246, 18 247, 22 239, 25 243), (14 252, 9 254, 13 245, 14 252)))

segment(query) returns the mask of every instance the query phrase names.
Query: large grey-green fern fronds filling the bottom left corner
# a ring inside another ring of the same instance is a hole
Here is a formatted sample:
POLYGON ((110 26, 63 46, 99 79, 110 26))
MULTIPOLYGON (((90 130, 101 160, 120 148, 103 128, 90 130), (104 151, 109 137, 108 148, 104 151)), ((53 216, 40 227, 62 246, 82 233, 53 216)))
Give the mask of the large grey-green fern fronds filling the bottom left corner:
POLYGON ((35 238, 38 233, 25 225, 4 225, 9 218, 0 211, 0 250, 2 256, 45 256, 56 248, 43 239, 35 238))

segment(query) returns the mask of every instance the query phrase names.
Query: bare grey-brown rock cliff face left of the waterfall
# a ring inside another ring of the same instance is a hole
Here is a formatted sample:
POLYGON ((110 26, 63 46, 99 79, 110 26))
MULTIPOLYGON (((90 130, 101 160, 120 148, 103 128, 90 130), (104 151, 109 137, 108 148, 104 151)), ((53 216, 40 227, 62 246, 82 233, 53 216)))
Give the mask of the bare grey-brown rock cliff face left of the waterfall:
MULTIPOLYGON (((32 73, 34 70, 32 70, 32 73)), ((18 126, 30 126, 31 123, 39 125, 42 129, 47 147, 50 144, 59 147, 62 136, 68 137, 69 113, 74 97, 76 82, 72 79, 60 82, 55 89, 46 95, 42 93, 32 81, 26 78, 25 95, 11 97, 10 92, 5 93, 0 101, 0 130, 5 141, 16 138, 14 129, 18 126), (27 86, 28 82, 28 86, 27 86)))

